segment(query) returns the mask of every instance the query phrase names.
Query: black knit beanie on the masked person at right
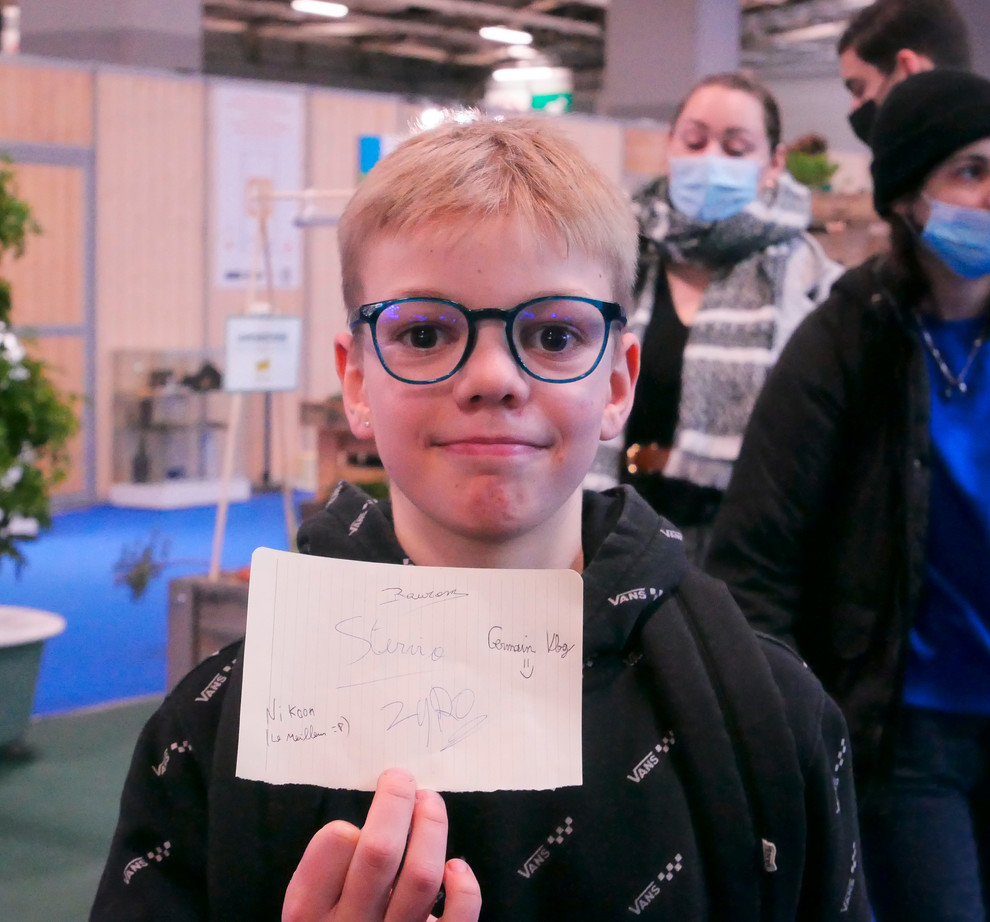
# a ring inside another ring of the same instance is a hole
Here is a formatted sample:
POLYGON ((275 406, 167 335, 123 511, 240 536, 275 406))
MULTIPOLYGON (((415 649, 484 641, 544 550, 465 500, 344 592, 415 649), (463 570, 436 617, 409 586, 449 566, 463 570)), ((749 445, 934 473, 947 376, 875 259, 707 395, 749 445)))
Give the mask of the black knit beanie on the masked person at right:
POLYGON ((962 70, 923 71, 898 83, 873 125, 873 205, 878 214, 916 192, 960 148, 990 137, 990 80, 962 70))

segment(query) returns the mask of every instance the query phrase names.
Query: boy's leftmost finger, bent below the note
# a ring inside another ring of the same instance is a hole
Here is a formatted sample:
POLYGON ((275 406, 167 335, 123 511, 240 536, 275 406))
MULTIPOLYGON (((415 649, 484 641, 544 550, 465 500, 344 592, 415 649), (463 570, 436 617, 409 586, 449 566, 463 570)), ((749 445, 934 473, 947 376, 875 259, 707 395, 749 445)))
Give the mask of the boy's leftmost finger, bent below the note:
POLYGON ((325 919, 337 905, 361 831, 343 820, 320 829, 306 846, 282 903, 282 922, 325 919))

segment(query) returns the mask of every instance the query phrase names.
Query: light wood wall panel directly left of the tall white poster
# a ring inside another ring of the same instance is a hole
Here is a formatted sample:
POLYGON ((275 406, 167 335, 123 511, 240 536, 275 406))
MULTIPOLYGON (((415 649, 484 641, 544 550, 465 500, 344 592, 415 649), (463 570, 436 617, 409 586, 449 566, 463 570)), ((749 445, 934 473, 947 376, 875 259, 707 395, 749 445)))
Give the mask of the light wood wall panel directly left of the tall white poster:
MULTIPOLYGON (((118 349, 204 345, 204 86, 101 71, 96 171, 97 367, 118 349)), ((98 376, 97 490, 111 475, 112 387, 98 376)))

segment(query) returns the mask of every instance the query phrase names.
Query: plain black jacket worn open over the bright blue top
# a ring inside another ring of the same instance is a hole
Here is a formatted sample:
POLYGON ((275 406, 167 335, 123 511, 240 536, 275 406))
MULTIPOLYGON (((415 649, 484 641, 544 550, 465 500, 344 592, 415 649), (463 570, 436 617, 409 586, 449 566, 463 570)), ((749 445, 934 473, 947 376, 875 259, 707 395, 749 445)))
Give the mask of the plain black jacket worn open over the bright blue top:
POLYGON ((928 379, 883 258, 794 333, 750 419, 707 570, 842 708, 861 800, 891 751, 924 569, 928 379))

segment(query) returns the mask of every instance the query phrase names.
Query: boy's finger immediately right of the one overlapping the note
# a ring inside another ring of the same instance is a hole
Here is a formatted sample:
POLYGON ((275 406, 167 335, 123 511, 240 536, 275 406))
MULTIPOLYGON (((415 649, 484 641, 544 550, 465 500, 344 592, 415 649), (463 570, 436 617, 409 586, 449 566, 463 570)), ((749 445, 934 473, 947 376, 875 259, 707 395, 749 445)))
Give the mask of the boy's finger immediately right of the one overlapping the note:
POLYGON ((386 922, 426 919, 437 900, 447 857, 447 808, 435 791, 417 791, 412 830, 386 922))

